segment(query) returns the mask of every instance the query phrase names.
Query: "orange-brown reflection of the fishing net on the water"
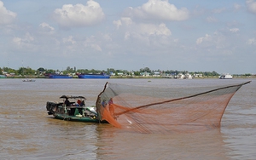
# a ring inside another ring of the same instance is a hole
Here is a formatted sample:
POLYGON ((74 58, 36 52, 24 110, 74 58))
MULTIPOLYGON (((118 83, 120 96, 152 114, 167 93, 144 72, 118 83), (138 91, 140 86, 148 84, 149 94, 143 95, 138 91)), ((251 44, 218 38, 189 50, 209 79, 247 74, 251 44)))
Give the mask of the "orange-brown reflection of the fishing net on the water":
POLYGON ((102 130, 99 159, 224 159, 218 129, 196 134, 136 134, 102 130), (118 155, 118 156, 117 156, 118 155))

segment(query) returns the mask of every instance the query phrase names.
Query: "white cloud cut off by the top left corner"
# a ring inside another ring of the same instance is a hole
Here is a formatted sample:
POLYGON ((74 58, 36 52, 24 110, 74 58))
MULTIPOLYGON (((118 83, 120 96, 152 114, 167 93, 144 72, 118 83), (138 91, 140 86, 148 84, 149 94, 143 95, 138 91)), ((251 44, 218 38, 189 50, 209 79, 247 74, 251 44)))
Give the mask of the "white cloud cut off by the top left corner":
POLYGON ((15 20, 17 14, 12 11, 7 10, 3 6, 3 2, 0 1, 0 25, 8 25, 15 20))

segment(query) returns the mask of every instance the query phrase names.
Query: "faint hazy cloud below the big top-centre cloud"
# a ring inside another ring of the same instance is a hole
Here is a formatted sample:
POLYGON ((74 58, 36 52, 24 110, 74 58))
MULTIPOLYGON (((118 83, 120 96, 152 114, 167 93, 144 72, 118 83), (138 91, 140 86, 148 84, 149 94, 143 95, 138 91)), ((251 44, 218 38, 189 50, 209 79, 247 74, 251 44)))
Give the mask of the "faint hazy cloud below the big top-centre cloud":
MULTIPOLYGON (((136 21, 132 21, 131 18, 126 17, 115 20, 113 24, 119 27, 116 35, 123 35, 124 43, 127 46, 136 42, 136 45, 131 50, 143 48, 154 49, 170 45, 169 38, 172 35, 172 31, 168 29, 165 23, 137 23, 136 21)), ((143 53, 144 51, 141 54, 143 53)))

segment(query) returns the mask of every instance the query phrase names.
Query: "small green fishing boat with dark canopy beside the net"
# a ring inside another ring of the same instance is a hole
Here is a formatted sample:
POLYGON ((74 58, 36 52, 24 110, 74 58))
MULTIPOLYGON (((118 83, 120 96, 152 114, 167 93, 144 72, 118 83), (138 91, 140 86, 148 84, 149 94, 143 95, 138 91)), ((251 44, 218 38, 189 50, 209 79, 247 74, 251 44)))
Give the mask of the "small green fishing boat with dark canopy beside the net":
POLYGON ((84 96, 67 96, 62 95, 61 102, 47 102, 46 109, 49 115, 53 115, 56 119, 76 121, 84 123, 107 123, 99 121, 95 107, 86 107, 84 96), (73 101, 69 101, 73 100, 73 101))

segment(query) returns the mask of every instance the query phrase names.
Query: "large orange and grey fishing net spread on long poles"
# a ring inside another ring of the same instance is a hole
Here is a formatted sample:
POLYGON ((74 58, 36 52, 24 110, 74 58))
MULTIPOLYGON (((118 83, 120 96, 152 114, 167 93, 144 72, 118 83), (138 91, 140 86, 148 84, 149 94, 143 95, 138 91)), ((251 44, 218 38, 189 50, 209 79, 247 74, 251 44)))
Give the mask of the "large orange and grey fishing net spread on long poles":
POLYGON ((140 133, 215 129, 220 126, 231 97, 247 83, 201 88, 106 83, 96 108, 101 120, 140 133))

